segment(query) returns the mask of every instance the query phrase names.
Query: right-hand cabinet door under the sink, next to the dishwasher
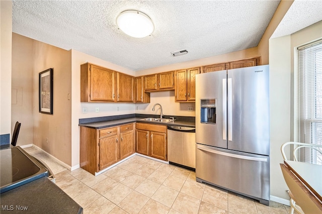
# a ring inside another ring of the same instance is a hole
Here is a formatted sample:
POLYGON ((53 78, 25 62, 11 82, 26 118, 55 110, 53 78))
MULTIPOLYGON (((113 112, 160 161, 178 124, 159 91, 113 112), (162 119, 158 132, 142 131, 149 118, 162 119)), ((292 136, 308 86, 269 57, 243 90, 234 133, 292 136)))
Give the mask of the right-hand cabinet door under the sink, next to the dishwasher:
POLYGON ((167 160, 167 134, 150 132, 149 156, 160 160, 167 160))

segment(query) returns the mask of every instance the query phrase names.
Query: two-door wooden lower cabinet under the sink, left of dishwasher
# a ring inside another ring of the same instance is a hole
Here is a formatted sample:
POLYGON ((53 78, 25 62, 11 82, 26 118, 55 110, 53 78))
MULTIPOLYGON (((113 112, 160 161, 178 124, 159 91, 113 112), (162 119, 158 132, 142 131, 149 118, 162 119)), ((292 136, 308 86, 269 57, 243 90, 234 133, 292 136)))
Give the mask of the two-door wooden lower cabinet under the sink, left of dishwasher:
POLYGON ((136 124, 136 152, 160 160, 168 160, 167 126, 136 124))

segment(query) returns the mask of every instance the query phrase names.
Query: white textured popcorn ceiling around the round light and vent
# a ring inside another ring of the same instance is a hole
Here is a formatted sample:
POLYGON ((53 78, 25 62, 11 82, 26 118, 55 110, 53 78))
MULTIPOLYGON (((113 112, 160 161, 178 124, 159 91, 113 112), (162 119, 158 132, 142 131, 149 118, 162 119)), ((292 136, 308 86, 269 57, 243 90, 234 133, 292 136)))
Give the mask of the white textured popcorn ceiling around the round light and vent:
POLYGON ((13 1, 13 32, 137 71, 256 47, 279 2, 13 1), (148 15, 151 36, 118 30, 125 10, 148 15), (189 53, 170 54, 182 49, 189 53))

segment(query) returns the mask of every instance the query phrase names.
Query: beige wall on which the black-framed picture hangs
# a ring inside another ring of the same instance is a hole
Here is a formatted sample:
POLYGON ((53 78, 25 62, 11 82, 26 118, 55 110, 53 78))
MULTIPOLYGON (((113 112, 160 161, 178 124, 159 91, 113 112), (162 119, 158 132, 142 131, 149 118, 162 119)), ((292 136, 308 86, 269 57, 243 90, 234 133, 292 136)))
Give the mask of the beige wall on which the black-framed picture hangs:
POLYGON ((33 143, 71 165, 71 51, 33 41, 33 143), (53 68, 53 115, 39 113, 39 72, 53 68), (46 142, 48 138, 48 143, 46 142))

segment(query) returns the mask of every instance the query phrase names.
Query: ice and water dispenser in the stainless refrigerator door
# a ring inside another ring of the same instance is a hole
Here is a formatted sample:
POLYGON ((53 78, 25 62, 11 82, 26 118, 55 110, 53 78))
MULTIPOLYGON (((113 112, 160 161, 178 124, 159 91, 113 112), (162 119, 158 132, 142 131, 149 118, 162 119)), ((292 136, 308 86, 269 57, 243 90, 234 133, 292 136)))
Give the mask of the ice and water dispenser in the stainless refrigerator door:
POLYGON ((216 123, 216 99, 201 99, 201 123, 216 123))

